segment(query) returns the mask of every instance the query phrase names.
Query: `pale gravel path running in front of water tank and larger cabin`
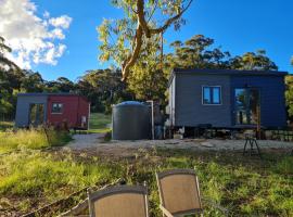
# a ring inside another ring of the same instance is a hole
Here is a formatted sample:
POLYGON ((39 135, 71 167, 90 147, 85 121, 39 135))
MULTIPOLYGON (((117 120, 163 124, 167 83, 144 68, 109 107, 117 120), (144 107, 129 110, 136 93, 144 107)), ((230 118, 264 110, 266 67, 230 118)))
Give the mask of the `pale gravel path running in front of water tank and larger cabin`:
MULTIPOLYGON (((217 139, 184 139, 184 140, 140 140, 140 141, 103 141, 103 133, 75 135, 74 140, 66 146, 69 149, 97 149, 99 151, 127 150, 140 148, 168 148, 192 150, 242 150, 244 140, 217 140, 217 139)), ((260 140, 260 149, 293 149, 293 142, 260 140)))

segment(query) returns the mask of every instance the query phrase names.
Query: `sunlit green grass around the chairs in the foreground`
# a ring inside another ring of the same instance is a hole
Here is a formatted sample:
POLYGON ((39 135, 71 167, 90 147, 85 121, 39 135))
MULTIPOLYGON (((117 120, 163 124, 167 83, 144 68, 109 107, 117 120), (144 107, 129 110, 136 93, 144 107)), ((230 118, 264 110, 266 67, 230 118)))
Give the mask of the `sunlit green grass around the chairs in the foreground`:
MULTIPOLYGON (((140 149, 127 158, 30 150, 0 158, 0 197, 7 210, 21 215, 95 182, 124 178, 129 184, 146 181, 151 216, 161 216, 155 173, 194 168, 202 194, 229 208, 231 216, 285 217, 293 216, 292 162, 293 156, 277 152, 264 153, 260 161, 241 153, 190 150, 140 149)), ((205 216, 220 216, 205 207, 205 216)))

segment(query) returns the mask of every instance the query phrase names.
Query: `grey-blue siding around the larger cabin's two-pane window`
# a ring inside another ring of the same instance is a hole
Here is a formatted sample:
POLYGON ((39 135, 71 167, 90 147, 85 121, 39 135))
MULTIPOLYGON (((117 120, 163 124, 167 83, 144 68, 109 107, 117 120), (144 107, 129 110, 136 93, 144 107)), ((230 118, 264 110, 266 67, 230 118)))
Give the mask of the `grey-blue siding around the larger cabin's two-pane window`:
POLYGON ((217 75, 176 75, 175 126, 212 124, 231 126, 230 77, 217 75), (221 105, 202 104, 202 86, 221 86, 221 105))

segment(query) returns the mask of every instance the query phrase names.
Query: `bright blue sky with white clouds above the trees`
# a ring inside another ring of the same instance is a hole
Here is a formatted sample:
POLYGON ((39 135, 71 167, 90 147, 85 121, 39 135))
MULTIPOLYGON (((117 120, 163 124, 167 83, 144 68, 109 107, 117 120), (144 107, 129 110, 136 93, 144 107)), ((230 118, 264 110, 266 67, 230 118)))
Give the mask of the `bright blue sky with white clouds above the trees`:
MULTIPOLYGON (((14 53, 9 58, 44 79, 77 80, 88 69, 106 68, 98 60, 97 27, 103 18, 120 18, 110 0, 0 0, 0 36, 14 53)), ((292 0, 193 0, 179 31, 167 42, 201 34, 232 55, 264 49, 279 66, 293 73, 292 0)))

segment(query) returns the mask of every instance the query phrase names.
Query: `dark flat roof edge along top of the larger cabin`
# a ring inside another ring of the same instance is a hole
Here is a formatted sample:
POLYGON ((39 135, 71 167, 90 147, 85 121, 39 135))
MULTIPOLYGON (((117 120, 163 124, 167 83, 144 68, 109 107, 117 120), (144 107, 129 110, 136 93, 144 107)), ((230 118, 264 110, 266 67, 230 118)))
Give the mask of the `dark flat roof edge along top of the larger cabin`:
POLYGON ((240 69, 207 69, 207 68, 174 68, 170 79, 175 74, 194 74, 194 75, 229 75, 229 76, 285 76, 288 72, 280 71, 240 71, 240 69))

